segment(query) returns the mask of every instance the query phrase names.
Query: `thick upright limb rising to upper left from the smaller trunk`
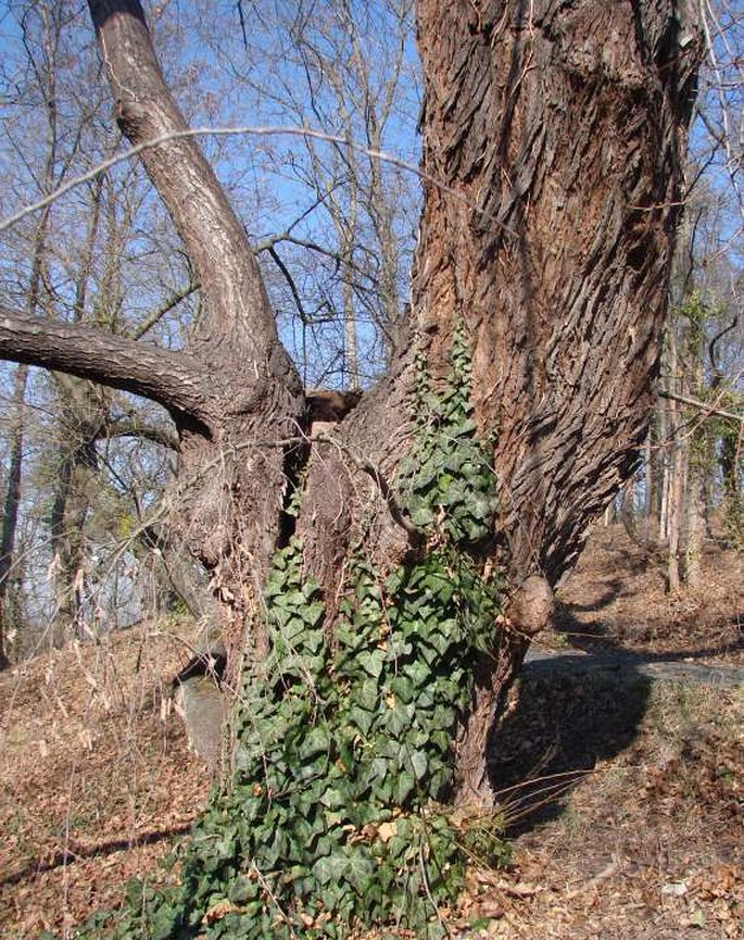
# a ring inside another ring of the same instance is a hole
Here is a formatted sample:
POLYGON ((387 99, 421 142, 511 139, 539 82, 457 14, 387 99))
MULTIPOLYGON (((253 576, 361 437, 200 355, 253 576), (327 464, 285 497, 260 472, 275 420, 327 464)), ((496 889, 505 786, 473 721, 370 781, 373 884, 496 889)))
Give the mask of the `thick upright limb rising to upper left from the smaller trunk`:
POLYGON ((155 55, 139 0, 88 0, 118 125, 171 213, 204 296, 196 339, 217 367, 225 350, 265 368, 276 322, 248 237, 198 141, 189 135, 155 55))

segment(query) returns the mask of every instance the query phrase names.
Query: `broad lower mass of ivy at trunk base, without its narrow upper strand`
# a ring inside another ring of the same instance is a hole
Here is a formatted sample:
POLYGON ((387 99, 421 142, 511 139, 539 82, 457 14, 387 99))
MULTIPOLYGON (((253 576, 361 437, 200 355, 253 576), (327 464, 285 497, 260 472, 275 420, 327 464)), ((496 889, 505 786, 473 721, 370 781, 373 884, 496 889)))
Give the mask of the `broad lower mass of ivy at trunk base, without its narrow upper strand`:
POLYGON ((443 801, 493 594, 444 549, 383 585, 358 559, 331 649, 292 543, 266 598, 273 652, 245 678, 232 786, 199 824, 178 916, 215 937, 428 930, 466 857, 443 801))

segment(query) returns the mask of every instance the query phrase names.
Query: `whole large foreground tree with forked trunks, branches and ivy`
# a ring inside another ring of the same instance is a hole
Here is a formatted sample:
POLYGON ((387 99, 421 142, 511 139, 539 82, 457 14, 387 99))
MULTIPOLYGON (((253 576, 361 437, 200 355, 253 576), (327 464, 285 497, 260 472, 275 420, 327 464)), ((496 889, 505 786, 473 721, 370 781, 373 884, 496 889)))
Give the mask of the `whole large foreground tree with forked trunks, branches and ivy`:
POLYGON ((413 305, 388 375, 329 428, 141 8, 90 9, 123 133, 160 141, 142 162, 200 316, 173 351, 5 309, 2 355, 168 410, 176 524, 242 667, 232 788, 182 886, 133 916, 160 936, 420 924, 462 857, 431 801, 489 802, 494 702, 644 439, 695 25, 672 4, 419 0, 413 305))

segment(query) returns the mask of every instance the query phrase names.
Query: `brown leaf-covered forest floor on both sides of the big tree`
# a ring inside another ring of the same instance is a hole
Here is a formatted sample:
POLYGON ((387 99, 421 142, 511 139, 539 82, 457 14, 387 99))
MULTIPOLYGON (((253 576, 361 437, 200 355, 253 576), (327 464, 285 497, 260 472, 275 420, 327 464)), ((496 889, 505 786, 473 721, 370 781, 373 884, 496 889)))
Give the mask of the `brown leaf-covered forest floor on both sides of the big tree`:
MULTIPOLYGON (((670 597, 660 559, 596 530, 535 647, 622 667, 526 667, 492 755, 513 862, 472 866, 452 937, 744 936, 744 686, 716 678, 744 674, 744 557, 711 541, 703 568, 670 597)), ((166 692, 192 641, 140 625, 0 675, 3 940, 71 936, 187 831, 209 779, 166 692)))

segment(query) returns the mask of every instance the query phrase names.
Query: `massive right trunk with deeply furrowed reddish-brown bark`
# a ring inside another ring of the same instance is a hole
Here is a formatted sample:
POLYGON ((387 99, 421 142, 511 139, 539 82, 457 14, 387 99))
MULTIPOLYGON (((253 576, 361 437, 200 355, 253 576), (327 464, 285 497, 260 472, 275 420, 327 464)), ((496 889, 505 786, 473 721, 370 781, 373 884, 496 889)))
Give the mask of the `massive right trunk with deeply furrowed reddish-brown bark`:
MULTIPOLYGON (((502 563, 512 585, 555 585, 646 434, 694 34, 666 3, 418 10, 418 325, 441 368, 453 324, 467 324, 478 422, 499 433, 502 563)), ((530 628, 512 629, 518 660, 530 628)), ((486 694, 481 722, 490 706, 486 694)))

